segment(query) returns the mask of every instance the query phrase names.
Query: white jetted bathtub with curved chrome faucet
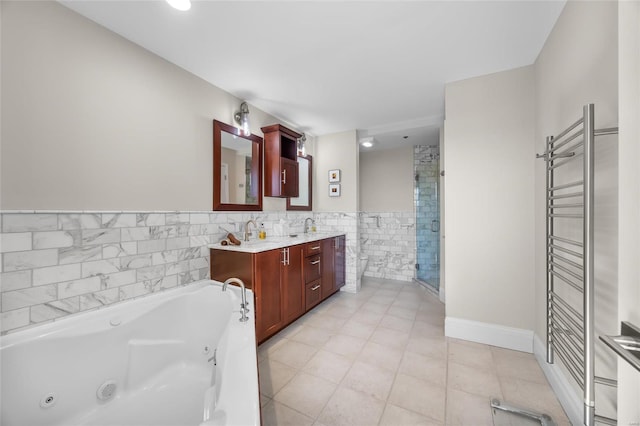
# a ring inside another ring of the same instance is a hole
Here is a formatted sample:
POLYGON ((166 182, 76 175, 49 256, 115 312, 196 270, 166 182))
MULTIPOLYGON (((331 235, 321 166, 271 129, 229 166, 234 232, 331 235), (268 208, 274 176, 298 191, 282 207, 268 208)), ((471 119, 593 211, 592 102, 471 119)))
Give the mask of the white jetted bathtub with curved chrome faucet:
POLYGON ((239 318, 237 287, 200 281, 3 336, 0 424, 259 425, 239 318))

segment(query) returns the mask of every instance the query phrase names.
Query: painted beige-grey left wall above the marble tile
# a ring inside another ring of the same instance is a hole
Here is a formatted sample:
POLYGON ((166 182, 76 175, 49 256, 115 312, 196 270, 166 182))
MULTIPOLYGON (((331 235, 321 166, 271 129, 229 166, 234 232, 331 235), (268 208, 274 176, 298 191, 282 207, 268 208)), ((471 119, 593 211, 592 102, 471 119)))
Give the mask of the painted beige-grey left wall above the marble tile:
POLYGON ((1 7, 1 208, 211 209, 212 120, 240 99, 56 2, 1 7))

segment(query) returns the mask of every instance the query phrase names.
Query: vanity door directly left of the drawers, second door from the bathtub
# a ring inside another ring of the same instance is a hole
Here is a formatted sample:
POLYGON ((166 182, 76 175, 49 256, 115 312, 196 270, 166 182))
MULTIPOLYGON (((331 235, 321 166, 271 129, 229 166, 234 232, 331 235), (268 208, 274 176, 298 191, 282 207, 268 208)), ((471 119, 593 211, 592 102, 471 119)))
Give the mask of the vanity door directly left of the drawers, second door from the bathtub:
POLYGON ((286 325, 304 313, 305 295, 302 282, 302 246, 285 249, 286 262, 281 266, 280 280, 283 289, 283 318, 286 325))

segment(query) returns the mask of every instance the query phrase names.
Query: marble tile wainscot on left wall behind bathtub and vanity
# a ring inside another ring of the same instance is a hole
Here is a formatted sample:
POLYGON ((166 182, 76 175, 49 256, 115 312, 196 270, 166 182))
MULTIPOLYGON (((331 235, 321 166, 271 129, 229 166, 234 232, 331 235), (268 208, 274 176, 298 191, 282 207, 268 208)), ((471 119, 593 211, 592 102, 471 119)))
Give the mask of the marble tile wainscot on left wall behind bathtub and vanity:
POLYGON ((347 234, 347 283, 356 292, 355 213, 69 212, 0 214, 0 332, 54 321, 209 278, 207 245, 249 219, 267 235, 347 234))

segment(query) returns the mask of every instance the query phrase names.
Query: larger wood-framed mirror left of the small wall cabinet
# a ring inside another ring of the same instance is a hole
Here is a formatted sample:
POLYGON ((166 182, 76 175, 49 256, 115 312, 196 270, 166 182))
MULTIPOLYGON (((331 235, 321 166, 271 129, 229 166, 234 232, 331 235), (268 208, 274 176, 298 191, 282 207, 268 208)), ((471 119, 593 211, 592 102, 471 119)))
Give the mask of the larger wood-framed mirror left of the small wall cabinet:
POLYGON ((213 120, 213 210, 262 210, 262 138, 213 120))

